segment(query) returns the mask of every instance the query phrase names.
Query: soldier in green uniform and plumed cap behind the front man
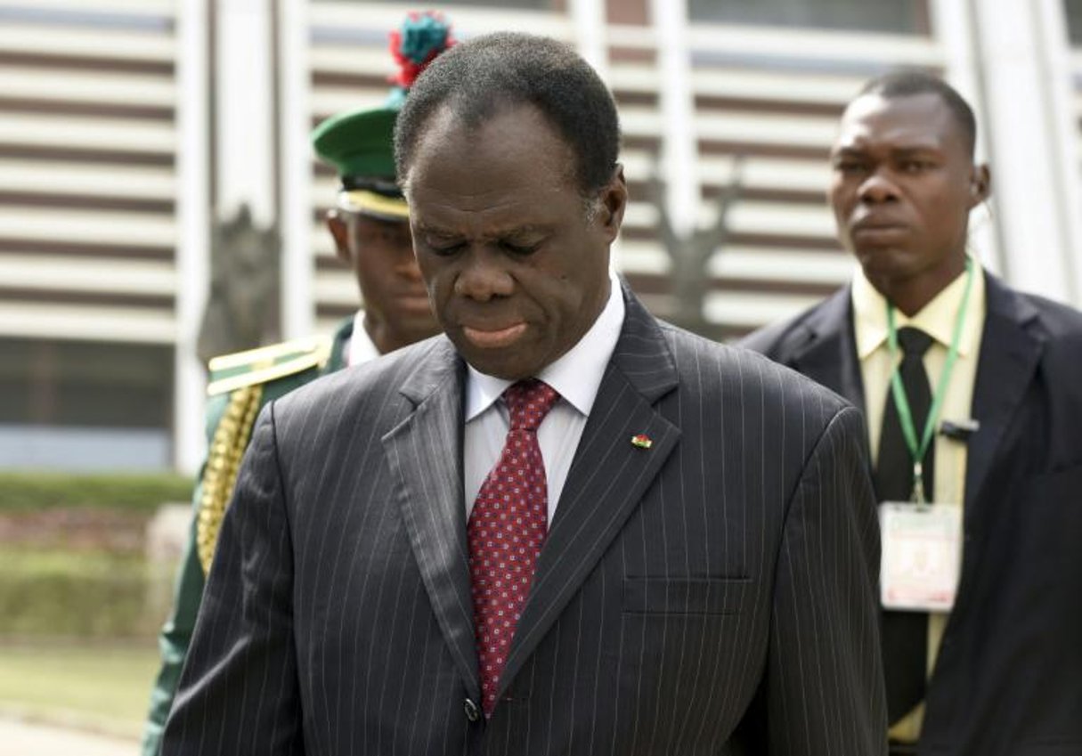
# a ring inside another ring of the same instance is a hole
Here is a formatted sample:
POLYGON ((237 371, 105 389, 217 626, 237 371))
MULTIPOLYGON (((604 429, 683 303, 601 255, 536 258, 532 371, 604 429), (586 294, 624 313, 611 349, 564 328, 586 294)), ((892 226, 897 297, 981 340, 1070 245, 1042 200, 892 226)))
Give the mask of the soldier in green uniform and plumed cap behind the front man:
POLYGON ((362 310, 333 339, 311 337, 210 361, 209 452, 194 493, 195 519, 176 581, 172 615, 159 636, 161 669, 150 694, 143 756, 157 756, 202 599, 217 532, 252 425, 267 402, 320 375, 373 359, 437 332, 413 258, 406 200, 395 182, 393 131, 413 79, 453 44, 438 13, 411 13, 391 34, 399 67, 383 107, 328 118, 312 134, 316 154, 342 185, 327 227, 357 277, 362 310))

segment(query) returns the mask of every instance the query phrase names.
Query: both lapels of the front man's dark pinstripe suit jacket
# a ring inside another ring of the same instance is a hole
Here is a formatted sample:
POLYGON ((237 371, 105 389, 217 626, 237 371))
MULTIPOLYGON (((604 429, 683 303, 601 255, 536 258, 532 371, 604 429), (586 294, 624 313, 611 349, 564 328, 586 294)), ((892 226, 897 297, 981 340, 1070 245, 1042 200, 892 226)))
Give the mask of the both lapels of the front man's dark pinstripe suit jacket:
MULTIPOLYGON (((519 620, 501 693, 634 512, 679 430, 654 408, 677 384, 657 321, 622 284, 623 328, 586 421, 519 620), (649 449, 633 436, 651 439, 649 449)), ((418 568, 471 698, 479 700, 462 485, 465 363, 427 343, 400 393, 412 411, 383 438, 418 568)))

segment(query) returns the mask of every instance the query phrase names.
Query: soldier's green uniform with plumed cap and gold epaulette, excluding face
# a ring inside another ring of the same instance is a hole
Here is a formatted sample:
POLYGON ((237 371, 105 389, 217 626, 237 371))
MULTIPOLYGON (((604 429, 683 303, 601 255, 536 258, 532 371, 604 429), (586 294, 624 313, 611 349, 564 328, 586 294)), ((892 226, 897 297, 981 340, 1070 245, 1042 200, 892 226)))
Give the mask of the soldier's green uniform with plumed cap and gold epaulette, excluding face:
MULTIPOLYGON (((405 222, 409 209, 394 180, 395 118, 413 79, 453 44, 453 39, 443 16, 428 12, 410 14, 403 28, 392 32, 391 43, 399 72, 384 106, 328 118, 313 132, 312 141, 316 154, 338 169, 342 180, 338 194, 341 209, 405 222)), ((349 318, 338 328, 333 340, 304 339, 210 362, 209 452, 193 495, 195 518, 176 580, 173 612, 159 635, 162 664, 150 694, 143 756, 157 756, 161 750, 161 734, 192 641, 219 528, 255 417, 266 403, 345 367, 345 348, 353 330, 354 319, 349 318)))

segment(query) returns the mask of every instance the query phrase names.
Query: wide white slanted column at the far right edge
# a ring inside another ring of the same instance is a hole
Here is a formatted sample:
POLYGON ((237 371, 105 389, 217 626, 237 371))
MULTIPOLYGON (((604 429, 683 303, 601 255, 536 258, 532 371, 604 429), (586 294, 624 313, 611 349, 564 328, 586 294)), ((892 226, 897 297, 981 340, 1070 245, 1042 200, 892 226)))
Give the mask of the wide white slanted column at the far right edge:
POLYGON ((1063 9, 1058 0, 973 0, 972 8, 1003 274, 1024 291, 1078 303, 1072 255, 1082 237, 1063 9))

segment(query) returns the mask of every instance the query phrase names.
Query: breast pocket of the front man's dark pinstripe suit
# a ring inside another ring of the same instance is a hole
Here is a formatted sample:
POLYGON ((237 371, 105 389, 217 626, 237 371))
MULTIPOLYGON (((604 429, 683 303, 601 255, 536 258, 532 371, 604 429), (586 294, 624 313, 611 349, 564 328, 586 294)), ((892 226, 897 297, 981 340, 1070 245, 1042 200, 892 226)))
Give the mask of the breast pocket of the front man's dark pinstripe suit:
POLYGON ((750 578, 624 578, 624 614, 738 614, 750 578))

